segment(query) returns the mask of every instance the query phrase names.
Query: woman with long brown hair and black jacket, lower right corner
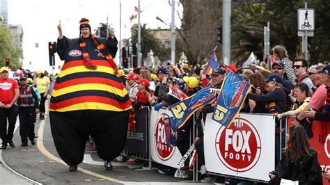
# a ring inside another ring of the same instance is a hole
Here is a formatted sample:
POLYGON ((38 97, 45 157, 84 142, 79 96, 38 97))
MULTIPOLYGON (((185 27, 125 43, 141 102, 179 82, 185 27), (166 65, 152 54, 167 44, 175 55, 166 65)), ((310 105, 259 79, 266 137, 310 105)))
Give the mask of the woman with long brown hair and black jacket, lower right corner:
POLYGON ((322 172, 317 152, 311 148, 306 131, 301 125, 292 125, 288 134, 288 147, 276 170, 269 172, 269 184, 280 184, 281 179, 299 184, 322 184, 322 172))

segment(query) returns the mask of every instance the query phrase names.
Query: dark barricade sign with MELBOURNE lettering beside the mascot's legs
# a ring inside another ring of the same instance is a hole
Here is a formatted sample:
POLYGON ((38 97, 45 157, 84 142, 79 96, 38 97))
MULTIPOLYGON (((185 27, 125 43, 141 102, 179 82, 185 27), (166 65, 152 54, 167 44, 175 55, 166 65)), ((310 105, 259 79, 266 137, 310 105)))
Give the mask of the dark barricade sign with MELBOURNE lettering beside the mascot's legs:
POLYGON ((124 150, 148 157, 148 108, 139 109, 135 112, 136 130, 127 131, 124 150))

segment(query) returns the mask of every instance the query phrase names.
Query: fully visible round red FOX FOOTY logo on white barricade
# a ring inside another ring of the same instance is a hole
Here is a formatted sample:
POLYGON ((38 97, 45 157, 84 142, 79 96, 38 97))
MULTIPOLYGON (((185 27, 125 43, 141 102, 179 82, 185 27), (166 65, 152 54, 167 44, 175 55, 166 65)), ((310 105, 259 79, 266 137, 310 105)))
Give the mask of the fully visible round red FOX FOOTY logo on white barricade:
POLYGON ((215 143, 221 163, 235 172, 249 171, 259 160, 260 136, 248 120, 236 118, 229 127, 221 127, 215 143))

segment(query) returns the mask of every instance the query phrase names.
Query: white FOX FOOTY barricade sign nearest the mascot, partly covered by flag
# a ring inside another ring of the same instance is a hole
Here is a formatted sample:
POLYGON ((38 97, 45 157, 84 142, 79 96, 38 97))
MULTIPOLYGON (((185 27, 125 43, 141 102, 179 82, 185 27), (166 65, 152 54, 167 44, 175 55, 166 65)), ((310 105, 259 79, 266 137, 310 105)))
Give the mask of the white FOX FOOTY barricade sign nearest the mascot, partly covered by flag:
MULTIPOLYGON (((152 108, 150 115, 150 154, 151 159, 157 163, 176 168, 182 155, 175 145, 175 131, 169 126, 169 118, 173 117, 171 111, 152 108), (166 136, 166 132, 171 135, 166 136), (171 141, 170 141, 171 140, 171 141)), ((184 151, 185 152, 185 151, 184 151)))

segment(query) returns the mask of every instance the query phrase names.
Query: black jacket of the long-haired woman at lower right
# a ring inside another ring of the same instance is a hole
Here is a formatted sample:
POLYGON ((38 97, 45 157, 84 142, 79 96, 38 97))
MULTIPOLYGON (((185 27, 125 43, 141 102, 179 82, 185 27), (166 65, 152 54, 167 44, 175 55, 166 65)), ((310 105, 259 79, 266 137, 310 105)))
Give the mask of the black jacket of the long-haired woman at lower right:
POLYGON ((269 181, 269 184, 280 184, 281 179, 299 181, 299 184, 322 184, 322 170, 317 161, 317 153, 310 150, 312 156, 304 154, 297 163, 287 160, 284 154, 283 159, 276 166, 276 177, 269 181), (289 161, 289 162, 288 162, 289 161))

